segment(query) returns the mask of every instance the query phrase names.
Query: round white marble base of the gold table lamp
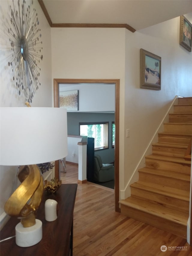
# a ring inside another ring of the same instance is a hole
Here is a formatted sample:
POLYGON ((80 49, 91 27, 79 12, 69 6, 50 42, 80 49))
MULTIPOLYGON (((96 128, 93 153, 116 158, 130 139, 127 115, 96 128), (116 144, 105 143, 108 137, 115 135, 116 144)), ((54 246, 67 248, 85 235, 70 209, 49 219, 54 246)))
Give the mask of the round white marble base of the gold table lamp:
POLYGON ((32 227, 23 227, 19 222, 15 227, 16 244, 21 247, 29 247, 37 244, 42 239, 42 222, 35 219, 36 224, 32 227))

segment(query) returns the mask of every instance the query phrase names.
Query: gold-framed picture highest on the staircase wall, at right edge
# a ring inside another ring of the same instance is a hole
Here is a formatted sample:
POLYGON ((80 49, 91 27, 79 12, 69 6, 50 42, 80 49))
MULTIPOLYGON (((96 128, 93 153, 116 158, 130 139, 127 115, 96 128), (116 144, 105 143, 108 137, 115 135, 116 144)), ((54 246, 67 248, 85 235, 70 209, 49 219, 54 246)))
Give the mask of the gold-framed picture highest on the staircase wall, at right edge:
POLYGON ((184 16, 180 16, 179 44, 189 52, 191 52, 191 34, 192 24, 184 16))

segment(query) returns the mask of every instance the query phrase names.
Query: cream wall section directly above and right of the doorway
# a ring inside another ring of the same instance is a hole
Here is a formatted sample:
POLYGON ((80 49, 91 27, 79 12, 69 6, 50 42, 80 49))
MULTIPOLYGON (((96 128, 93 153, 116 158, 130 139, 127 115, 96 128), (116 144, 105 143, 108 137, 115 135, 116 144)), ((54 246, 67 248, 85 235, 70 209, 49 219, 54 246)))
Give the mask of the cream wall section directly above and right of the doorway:
POLYGON ((120 79, 119 166, 124 171, 125 29, 52 28, 54 78, 120 79))

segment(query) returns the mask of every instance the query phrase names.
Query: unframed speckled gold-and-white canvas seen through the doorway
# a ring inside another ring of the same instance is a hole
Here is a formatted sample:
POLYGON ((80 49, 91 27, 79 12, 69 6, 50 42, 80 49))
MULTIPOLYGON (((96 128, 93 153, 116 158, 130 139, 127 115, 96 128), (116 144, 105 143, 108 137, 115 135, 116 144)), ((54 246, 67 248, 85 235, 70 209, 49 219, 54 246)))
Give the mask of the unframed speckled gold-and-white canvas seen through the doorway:
POLYGON ((78 110, 78 90, 59 92, 59 107, 67 111, 78 110))

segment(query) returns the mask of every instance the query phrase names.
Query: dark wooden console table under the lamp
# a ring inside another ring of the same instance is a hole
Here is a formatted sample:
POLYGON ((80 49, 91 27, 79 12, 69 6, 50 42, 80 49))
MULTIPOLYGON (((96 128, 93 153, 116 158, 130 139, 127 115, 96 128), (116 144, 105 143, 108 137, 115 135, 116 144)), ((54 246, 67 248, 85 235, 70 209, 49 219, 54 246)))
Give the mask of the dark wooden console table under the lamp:
MULTIPOLYGON (((15 237, 0 243, 1 256, 66 256, 73 255, 73 210, 77 184, 62 184, 56 193, 44 191, 41 205, 37 211, 37 219, 42 221, 43 238, 30 247, 19 247, 15 237), (58 202, 58 217, 55 221, 45 220, 45 201, 54 199, 58 202)), ((1 230, 1 240, 15 235, 16 218, 10 218, 1 230)))

